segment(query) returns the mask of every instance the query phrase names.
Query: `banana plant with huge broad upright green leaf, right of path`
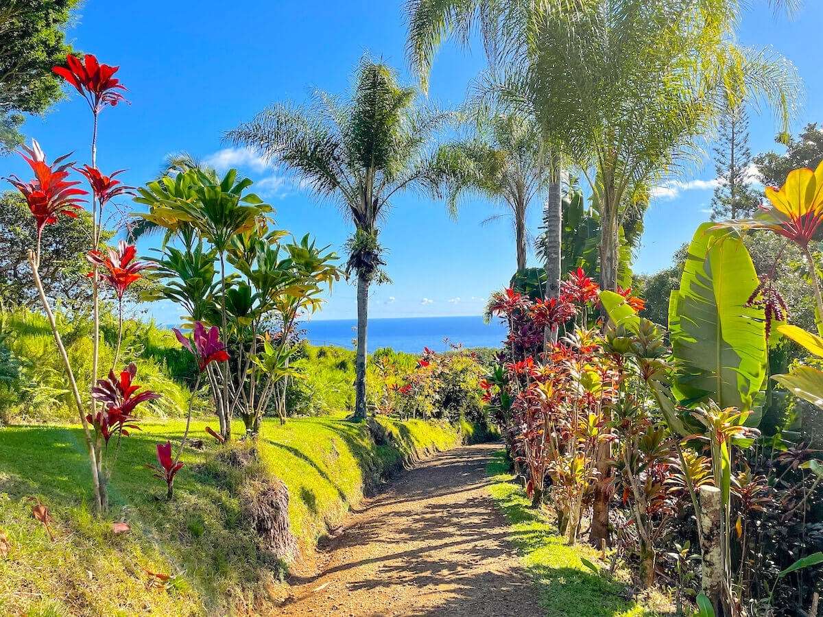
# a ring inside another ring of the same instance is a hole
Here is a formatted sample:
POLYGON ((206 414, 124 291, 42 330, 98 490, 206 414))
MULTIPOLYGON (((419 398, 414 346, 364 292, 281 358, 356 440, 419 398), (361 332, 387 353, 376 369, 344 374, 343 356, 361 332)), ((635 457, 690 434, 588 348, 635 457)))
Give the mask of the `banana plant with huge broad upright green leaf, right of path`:
MULTIPOLYGON (((760 421, 756 395, 766 375, 765 322, 756 308, 746 306, 757 285, 754 264, 739 235, 712 223, 700 225, 689 246, 680 289, 672 291, 669 299, 672 354, 666 360, 656 344, 661 338, 658 327, 639 318, 620 295, 600 294, 613 326, 629 335, 624 344, 635 355, 669 429, 686 442, 706 438, 711 444, 712 476, 721 492, 718 549, 725 579, 722 597, 712 601, 732 615, 732 446, 746 448, 752 443, 753 427, 760 421)), ((681 443, 677 443, 677 453, 702 545, 695 478, 688 474, 681 443)), ((710 559, 709 554, 704 559, 710 559)))

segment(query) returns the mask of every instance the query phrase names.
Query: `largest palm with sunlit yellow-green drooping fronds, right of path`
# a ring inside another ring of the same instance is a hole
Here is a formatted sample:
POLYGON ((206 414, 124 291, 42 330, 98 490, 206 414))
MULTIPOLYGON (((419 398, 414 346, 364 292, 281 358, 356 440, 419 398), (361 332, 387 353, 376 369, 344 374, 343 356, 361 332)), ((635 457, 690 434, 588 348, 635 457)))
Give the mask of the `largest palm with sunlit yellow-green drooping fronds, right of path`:
POLYGON ((615 290, 619 229, 639 193, 699 159, 729 101, 760 98, 783 128, 796 100, 790 63, 730 43, 728 0, 549 0, 528 54, 494 90, 550 123, 601 212, 601 285, 615 290), (547 79, 546 75, 551 75, 547 79))

